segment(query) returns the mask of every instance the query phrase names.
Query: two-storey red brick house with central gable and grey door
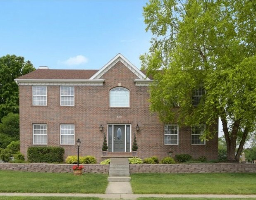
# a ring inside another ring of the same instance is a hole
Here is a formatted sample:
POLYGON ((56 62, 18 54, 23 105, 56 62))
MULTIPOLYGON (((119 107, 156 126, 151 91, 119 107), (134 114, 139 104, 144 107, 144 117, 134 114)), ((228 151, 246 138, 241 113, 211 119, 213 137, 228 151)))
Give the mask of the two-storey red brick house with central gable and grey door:
MULTIPOLYGON (((61 146, 65 156, 102 160, 104 133, 109 155, 132 155, 136 133, 141 158, 163 158, 172 151, 209 160, 218 158, 218 124, 214 138, 201 141, 203 124, 163 124, 148 110, 152 82, 122 54, 100 70, 59 70, 39 67, 15 79, 19 85, 20 151, 26 156, 33 145, 61 146), (137 129, 136 130, 136 126, 137 129), (102 127, 102 131, 100 131, 102 127)), ((202 91, 194 94, 200 98, 202 91)))

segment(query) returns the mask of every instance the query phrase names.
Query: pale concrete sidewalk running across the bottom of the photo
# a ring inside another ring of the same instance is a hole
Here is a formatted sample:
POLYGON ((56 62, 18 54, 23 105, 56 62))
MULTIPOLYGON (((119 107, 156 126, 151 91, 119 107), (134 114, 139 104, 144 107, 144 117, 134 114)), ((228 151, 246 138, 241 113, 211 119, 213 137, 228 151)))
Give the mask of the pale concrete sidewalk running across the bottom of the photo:
POLYGON ((98 197, 103 199, 156 198, 256 198, 256 195, 164 195, 164 194, 73 194, 73 193, 0 193, 0 196, 98 197))

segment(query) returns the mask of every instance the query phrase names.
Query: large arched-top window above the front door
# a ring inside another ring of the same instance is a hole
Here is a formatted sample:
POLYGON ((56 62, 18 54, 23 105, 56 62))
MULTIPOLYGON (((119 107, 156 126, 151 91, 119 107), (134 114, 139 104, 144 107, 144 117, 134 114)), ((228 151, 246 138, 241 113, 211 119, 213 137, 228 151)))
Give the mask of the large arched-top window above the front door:
POLYGON ((110 90, 110 107, 129 107, 130 91, 126 88, 117 87, 110 90))

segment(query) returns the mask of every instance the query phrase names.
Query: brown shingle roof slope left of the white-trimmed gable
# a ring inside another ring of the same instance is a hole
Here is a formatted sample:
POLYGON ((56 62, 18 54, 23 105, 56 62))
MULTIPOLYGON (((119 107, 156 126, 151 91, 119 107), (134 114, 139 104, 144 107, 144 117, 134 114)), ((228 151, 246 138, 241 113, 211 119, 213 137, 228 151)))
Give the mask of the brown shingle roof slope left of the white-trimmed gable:
POLYGON ((37 69, 18 79, 90 79, 98 69, 37 69))

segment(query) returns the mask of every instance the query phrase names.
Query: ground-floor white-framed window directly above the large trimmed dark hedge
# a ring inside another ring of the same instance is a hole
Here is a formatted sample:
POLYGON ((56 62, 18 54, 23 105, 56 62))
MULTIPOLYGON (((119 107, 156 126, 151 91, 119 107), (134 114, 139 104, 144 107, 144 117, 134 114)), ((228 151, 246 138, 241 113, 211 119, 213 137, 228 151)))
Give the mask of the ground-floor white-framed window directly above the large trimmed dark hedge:
POLYGON ((33 144, 47 145, 47 124, 33 124, 33 144))

